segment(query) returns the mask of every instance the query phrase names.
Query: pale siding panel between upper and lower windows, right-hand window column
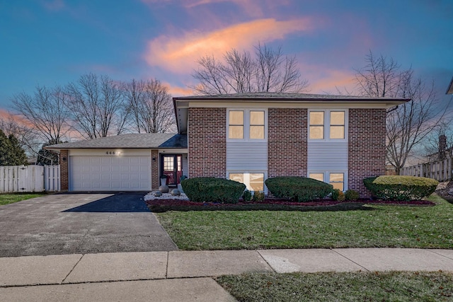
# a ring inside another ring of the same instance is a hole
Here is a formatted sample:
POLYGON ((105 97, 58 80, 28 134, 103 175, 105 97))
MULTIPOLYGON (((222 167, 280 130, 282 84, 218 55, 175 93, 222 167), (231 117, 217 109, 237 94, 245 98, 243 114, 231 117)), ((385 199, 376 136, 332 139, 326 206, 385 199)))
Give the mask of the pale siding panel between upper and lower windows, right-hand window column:
POLYGON ((348 170, 348 142, 309 141, 308 170, 348 170))

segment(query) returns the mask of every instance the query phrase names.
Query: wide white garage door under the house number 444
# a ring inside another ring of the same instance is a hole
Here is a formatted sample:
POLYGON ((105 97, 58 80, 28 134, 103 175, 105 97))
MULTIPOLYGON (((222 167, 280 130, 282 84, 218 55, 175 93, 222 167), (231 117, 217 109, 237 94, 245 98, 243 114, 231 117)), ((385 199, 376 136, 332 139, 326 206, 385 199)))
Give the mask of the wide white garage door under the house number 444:
POLYGON ((69 190, 151 190, 150 156, 69 156, 69 190))

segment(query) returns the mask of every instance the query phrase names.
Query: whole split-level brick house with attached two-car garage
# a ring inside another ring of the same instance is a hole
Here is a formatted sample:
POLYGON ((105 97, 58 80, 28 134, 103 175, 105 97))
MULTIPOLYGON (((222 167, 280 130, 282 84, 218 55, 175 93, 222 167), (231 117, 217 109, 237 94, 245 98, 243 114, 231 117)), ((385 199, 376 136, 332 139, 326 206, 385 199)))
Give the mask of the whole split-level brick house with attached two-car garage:
POLYGON ((384 175, 386 110, 408 99, 299 93, 173 98, 178 134, 124 134, 47 146, 59 151, 69 191, 155 190, 188 178, 242 182, 304 176, 369 196, 384 175))

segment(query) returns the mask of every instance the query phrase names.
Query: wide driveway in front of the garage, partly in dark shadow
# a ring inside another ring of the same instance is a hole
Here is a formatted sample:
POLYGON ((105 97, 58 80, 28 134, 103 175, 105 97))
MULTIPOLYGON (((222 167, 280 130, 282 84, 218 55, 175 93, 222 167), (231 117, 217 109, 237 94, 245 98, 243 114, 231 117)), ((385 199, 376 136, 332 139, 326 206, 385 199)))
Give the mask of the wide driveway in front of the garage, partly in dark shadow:
POLYGON ((178 250, 144 194, 50 194, 1 206, 0 257, 178 250))

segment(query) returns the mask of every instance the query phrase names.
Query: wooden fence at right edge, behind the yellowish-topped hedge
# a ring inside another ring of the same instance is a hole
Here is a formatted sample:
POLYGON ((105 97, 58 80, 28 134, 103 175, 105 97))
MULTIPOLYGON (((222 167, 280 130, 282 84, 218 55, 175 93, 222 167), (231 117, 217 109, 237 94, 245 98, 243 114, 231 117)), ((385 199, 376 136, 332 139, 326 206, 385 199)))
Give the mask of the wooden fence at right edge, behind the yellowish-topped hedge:
POLYGON ((420 163, 411 167, 401 168, 400 175, 421 176, 443 182, 452 179, 452 158, 443 161, 420 163))

